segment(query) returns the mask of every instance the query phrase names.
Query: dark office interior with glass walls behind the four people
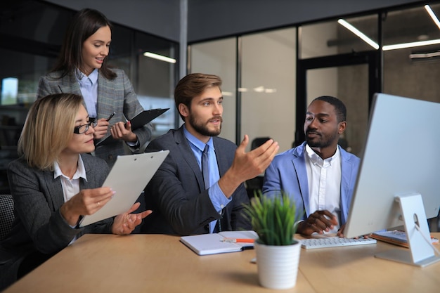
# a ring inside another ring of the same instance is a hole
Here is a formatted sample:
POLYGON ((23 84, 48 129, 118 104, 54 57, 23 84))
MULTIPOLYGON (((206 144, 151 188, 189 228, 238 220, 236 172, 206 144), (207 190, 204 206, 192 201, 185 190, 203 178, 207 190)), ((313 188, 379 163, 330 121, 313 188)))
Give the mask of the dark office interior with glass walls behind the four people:
MULTIPOLYGON (((51 69, 70 17, 84 7, 114 24, 109 63, 127 72, 143 107, 172 109, 155 119, 153 136, 181 124, 174 85, 190 72, 224 80, 221 136, 237 143, 244 134, 251 141, 271 137, 280 151, 304 140, 306 105, 317 96, 347 105, 344 138, 356 155, 373 93, 440 102, 440 1, 6 1, 0 10, 3 193, 39 77, 51 69)), ((411 134, 408 143, 415 143, 411 134)))

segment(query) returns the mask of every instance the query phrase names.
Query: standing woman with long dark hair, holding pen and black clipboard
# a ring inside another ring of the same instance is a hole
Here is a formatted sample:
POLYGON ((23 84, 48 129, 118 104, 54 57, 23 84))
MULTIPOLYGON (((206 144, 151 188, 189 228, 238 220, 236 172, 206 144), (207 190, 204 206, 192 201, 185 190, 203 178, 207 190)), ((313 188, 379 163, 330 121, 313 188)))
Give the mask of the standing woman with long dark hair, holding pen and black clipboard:
POLYGON ((83 96, 90 117, 98 119, 95 144, 110 135, 115 138, 97 145, 94 152, 110 167, 117 155, 124 155, 124 143, 131 152, 138 152, 151 138, 150 124, 135 130, 129 122, 125 124, 144 109, 127 74, 107 65, 111 41, 112 25, 103 13, 89 8, 79 11, 67 27, 55 67, 41 77, 37 94, 38 98, 52 93, 83 96))

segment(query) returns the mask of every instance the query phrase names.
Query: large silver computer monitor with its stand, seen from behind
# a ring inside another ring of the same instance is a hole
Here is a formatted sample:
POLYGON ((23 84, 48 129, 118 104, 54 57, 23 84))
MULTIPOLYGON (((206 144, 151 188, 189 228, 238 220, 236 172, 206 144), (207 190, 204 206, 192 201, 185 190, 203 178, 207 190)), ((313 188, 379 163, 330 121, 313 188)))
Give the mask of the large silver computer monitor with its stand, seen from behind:
POLYGON ((440 207, 439 117, 440 103, 374 96, 344 235, 405 226, 410 245, 377 257, 416 266, 439 261, 427 224, 440 207))

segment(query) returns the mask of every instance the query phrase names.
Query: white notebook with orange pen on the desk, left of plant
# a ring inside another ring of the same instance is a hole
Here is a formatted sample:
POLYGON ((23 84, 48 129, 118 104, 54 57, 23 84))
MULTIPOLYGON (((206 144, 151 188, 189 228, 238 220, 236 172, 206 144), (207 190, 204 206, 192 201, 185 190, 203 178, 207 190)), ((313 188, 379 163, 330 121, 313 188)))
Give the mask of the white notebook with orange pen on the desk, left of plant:
POLYGON ((220 233, 182 236, 181 242, 198 255, 240 252, 254 247, 258 237, 252 230, 223 231, 220 233), (243 242, 240 242, 243 241, 243 242), (237 241, 237 242, 236 242, 237 241))

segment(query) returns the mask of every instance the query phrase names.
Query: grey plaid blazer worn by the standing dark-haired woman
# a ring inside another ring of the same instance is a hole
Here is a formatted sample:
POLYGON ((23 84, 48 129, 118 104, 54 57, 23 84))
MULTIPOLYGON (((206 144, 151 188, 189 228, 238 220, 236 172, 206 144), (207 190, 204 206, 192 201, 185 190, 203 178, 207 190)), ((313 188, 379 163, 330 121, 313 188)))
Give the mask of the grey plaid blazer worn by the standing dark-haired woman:
MULTIPOLYGON (((139 103, 129 77, 124 73, 124 70, 112 69, 112 71, 117 74, 117 77, 113 80, 106 79, 101 72, 99 72, 98 103, 96 107, 98 119, 107 118, 112 112, 116 112, 115 116, 110 120, 110 124, 115 124, 116 122, 126 122, 126 119, 133 119, 133 117, 144 109, 141 103, 139 103)), ((61 77, 61 72, 51 72, 39 80, 37 98, 53 93, 76 93, 82 96, 76 77, 70 75, 61 77)), ((141 146, 150 140, 151 129, 151 125, 147 124, 133 131, 136 136, 138 136, 141 146)), ((108 134, 110 135, 110 131, 108 134)), ((95 141, 95 144, 101 140, 95 141)), ((115 164, 117 155, 124 155, 126 149, 127 148, 124 147, 124 141, 112 140, 112 143, 98 145, 95 150, 95 155, 105 159, 109 166, 112 167, 113 164, 115 164)))

